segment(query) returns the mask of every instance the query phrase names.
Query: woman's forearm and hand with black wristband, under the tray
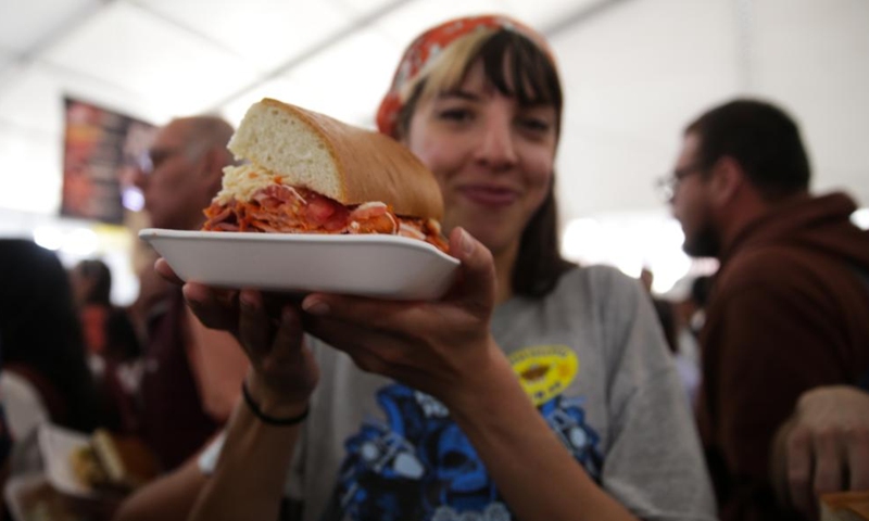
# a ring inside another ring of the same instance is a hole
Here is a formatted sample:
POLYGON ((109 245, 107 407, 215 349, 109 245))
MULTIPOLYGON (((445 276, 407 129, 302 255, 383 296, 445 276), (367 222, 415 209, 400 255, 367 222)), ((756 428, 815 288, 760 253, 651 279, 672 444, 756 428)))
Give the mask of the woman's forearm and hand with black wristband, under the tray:
MULTIPOLYGON (((209 314, 196 303, 210 301, 203 287, 185 288, 193 310, 209 325, 209 314)), ((300 418, 319 378, 318 369, 304 345, 301 313, 294 305, 275 308, 255 291, 239 296, 236 334, 251 359, 247 384, 250 399, 260 415, 300 418)), ((226 442, 214 474, 196 503, 190 520, 264 520, 278 517, 284 482, 299 437, 300 427, 268 424, 242 401, 227 429, 226 442)))

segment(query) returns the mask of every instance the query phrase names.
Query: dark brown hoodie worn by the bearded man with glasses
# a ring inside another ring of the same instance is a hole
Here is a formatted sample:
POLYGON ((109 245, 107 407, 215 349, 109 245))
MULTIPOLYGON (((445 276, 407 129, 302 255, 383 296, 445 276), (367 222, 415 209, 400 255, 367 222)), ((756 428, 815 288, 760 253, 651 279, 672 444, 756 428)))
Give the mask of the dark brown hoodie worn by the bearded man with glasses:
POLYGON ((869 369, 869 233, 844 194, 805 198, 721 257, 701 339, 698 422, 722 521, 801 519, 776 503, 773 435, 806 390, 869 369))

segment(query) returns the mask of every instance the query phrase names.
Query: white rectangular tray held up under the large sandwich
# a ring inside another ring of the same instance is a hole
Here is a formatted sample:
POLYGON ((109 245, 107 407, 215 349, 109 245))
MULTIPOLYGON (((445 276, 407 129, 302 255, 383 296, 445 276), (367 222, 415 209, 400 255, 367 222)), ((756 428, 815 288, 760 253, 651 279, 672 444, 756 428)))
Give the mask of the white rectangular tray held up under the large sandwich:
POLYGON ((217 288, 432 300, 450 288, 458 260, 398 236, 328 236, 143 229, 185 281, 217 288))

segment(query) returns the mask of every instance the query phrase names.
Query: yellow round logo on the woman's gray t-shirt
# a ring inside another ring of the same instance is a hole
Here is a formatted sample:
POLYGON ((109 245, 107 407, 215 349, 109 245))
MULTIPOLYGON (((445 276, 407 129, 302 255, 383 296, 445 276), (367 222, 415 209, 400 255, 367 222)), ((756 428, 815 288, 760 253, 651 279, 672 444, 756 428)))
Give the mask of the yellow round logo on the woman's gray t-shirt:
POLYGON ((538 407, 562 394, 579 371, 579 358, 566 345, 534 345, 508 358, 522 389, 538 407))

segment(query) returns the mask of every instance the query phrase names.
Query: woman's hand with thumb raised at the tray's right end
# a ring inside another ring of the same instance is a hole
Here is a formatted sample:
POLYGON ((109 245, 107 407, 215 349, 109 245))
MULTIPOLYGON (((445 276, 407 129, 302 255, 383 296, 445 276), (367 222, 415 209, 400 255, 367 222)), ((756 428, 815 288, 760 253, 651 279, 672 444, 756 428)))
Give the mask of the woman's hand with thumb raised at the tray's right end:
POLYGON ((495 295, 492 255, 462 229, 451 233, 450 252, 462 266, 440 301, 314 293, 302 302, 311 316, 307 331, 348 353, 363 370, 413 385, 450 407, 468 393, 482 392, 484 371, 504 367, 489 332, 495 295))

